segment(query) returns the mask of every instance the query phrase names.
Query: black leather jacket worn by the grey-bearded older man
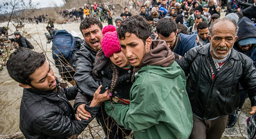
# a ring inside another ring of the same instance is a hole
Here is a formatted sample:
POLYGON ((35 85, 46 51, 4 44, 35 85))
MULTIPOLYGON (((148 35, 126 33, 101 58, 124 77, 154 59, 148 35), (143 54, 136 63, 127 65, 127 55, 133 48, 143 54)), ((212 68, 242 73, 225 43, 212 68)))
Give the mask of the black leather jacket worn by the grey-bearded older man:
POLYGON ((179 60, 180 67, 189 75, 186 91, 194 115, 209 120, 234 113, 240 101, 239 82, 247 90, 252 106, 256 106, 256 69, 252 59, 232 48, 228 61, 213 80, 209 49, 210 43, 194 47, 179 60))

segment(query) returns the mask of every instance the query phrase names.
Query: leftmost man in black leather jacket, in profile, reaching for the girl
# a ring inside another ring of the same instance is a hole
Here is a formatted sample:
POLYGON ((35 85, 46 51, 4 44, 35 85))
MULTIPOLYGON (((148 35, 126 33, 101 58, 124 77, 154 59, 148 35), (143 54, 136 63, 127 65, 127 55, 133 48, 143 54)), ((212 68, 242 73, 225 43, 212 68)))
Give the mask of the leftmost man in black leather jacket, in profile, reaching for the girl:
MULTIPOLYGON (((19 128, 26 138, 77 137, 99 110, 101 98, 95 98, 85 106, 91 117, 88 120, 76 120, 68 101, 75 99, 77 88, 60 87, 43 53, 18 49, 9 57, 7 69, 9 75, 24 88, 19 128)), ((107 92, 104 95, 99 92, 100 88, 95 96, 106 97, 107 92)))

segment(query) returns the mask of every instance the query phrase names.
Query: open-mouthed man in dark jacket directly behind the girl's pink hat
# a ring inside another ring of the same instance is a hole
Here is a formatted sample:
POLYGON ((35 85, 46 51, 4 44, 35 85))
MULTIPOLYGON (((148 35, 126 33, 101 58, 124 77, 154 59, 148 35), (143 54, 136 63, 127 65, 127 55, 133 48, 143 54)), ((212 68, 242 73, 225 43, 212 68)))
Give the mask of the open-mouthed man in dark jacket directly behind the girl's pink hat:
MULTIPOLYGON (((86 17, 80 23, 80 31, 83 34, 85 42, 81 44, 80 49, 75 54, 76 69, 74 79, 79 92, 76 96, 74 109, 81 113, 81 118, 90 116, 90 112, 84 109, 85 105, 92 100, 94 92, 101 85, 100 81, 93 78, 92 72, 95 71, 92 71, 92 69, 95 63, 96 53, 101 49, 102 28, 102 23, 93 17, 86 17)), ((103 127, 106 137, 117 138, 118 136, 119 138, 124 138, 120 128, 107 115, 104 105, 101 106, 103 106, 103 109, 100 108, 96 115, 96 120, 103 127)), ((80 117, 77 118, 80 119, 80 117)))

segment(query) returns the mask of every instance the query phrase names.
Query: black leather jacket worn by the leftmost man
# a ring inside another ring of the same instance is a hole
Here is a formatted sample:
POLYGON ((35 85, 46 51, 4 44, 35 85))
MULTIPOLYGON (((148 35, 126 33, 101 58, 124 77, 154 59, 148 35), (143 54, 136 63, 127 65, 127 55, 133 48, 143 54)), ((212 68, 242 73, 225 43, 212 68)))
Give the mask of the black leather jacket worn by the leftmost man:
POLYGON ((100 106, 88 107, 89 120, 78 121, 68 100, 77 94, 76 86, 53 91, 23 90, 19 128, 26 138, 66 138, 81 133, 100 106))

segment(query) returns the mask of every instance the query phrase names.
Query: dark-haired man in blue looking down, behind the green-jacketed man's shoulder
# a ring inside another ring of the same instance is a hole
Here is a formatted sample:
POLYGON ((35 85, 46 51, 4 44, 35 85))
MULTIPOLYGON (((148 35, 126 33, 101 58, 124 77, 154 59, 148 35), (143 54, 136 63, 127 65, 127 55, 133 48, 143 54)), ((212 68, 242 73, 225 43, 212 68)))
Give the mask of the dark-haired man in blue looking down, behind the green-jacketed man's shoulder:
POLYGON ((176 22, 172 18, 160 19, 156 25, 156 32, 159 36, 158 39, 164 40, 167 46, 180 56, 184 56, 185 52, 189 51, 189 49, 198 46, 196 34, 178 34, 176 22))

